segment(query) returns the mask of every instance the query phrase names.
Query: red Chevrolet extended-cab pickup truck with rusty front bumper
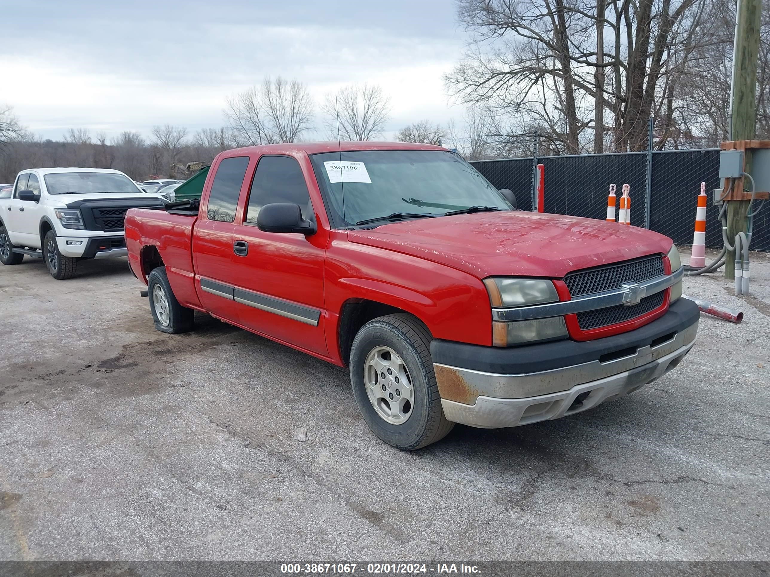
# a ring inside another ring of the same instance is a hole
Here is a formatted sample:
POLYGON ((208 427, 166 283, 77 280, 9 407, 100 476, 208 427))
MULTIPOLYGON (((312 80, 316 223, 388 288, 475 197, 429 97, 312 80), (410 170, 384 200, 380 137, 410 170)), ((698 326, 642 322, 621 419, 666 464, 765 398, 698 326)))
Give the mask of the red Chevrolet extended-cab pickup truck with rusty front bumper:
POLYGON ((432 145, 229 150, 199 204, 129 210, 126 245, 159 331, 203 311, 346 366, 363 419, 399 449, 634 392, 698 330, 670 238, 517 211, 432 145))

